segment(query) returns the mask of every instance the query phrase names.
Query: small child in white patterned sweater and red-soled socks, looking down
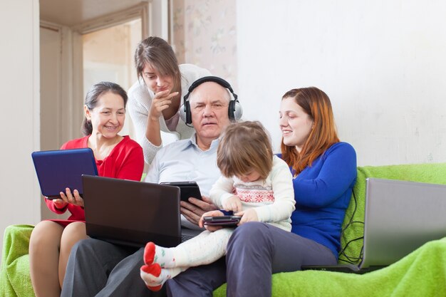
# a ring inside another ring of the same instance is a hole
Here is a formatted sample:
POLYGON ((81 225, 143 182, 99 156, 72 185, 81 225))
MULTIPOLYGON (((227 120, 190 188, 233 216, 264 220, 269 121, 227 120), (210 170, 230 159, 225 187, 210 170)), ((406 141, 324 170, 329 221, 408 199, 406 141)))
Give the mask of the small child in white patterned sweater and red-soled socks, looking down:
MULTIPOLYGON (((217 165, 223 176, 210 192, 217 207, 241 216, 239 225, 266 222, 291 231, 295 203, 292 175, 286 162, 274 156, 261 123, 229 125, 219 141, 217 165)), ((222 215, 219 210, 204 213, 199 226, 203 226, 203 217, 222 215)), ((165 281, 189 267, 210 264, 226 254, 234 229, 205 227, 206 231, 173 248, 147 243, 141 267, 147 288, 158 291, 165 281)))

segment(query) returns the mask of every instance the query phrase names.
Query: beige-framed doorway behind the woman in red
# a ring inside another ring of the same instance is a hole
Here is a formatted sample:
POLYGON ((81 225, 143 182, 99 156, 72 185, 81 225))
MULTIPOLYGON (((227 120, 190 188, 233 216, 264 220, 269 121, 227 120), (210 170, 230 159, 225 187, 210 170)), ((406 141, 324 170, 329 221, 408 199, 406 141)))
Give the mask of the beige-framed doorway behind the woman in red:
MULTIPOLYGON (((91 85, 110 80, 128 90, 136 80, 133 53, 147 34, 147 6, 130 12, 76 27, 41 21, 41 150, 58 150, 82 136, 83 102, 91 85)), ((133 136, 130 117, 120 134, 133 136)), ((41 219, 66 217, 41 199, 41 219)))

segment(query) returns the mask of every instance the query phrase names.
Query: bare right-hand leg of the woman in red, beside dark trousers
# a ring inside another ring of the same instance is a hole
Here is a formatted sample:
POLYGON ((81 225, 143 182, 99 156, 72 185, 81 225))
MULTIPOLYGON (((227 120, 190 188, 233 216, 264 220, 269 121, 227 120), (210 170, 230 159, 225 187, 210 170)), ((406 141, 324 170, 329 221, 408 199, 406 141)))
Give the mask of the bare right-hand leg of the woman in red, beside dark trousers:
POLYGON ((86 239, 87 233, 85 223, 73 222, 65 227, 61 238, 61 255, 59 256, 59 283, 62 288, 63 278, 65 277, 66 264, 71 253, 71 248, 81 239, 86 239))

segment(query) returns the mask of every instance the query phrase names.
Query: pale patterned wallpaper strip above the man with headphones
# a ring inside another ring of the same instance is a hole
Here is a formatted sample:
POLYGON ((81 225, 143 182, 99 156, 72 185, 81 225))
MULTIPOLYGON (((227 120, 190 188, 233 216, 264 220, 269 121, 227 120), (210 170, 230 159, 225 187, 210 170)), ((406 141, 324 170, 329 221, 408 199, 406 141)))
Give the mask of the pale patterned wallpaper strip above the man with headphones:
POLYGON ((180 63, 207 68, 237 93, 236 0, 173 0, 172 46, 180 63))

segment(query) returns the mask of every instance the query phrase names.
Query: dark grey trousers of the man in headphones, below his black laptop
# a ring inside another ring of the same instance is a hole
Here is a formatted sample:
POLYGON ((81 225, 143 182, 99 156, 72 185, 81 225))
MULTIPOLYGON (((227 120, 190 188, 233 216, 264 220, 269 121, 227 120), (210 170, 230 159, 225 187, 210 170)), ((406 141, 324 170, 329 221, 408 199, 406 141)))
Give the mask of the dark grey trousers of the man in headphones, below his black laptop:
POLYGON ((79 241, 71 250, 61 297, 165 296, 140 277, 144 248, 129 249, 98 239, 79 241))

